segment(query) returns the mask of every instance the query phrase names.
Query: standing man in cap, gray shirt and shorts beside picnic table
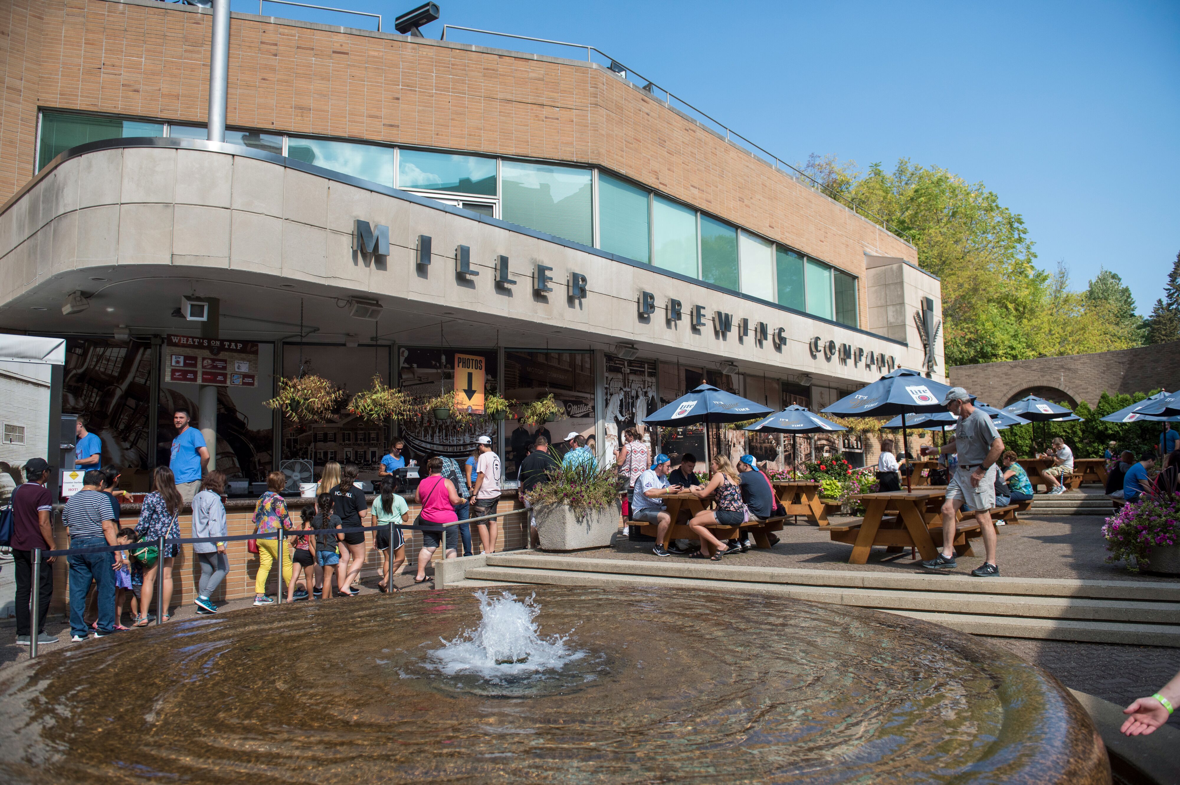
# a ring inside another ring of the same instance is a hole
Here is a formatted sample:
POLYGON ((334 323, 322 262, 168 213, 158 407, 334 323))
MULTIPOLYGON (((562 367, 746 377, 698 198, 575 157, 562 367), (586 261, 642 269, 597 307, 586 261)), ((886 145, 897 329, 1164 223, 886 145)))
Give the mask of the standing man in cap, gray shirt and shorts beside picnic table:
MULTIPOLYGON (((926 569, 953 569, 955 562, 955 513, 964 502, 975 514, 983 534, 983 547, 988 559, 983 566, 972 569, 976 578, 999 575, 996 566, 996 525, 991 522, 991 508, 996 504, 996 461, 1004 453, 1004 440, 996 430, 991 417, 971 405, 971 396, 962 387, 952 387, 943 401, 952 415, 958 417, 955 436, 938 453, 958 453, 958 467, 946 486, 943 502, 943 552, 930 561, 922 562, 926 569)), ((935 453, 924 446, 923 455, 935 453)))

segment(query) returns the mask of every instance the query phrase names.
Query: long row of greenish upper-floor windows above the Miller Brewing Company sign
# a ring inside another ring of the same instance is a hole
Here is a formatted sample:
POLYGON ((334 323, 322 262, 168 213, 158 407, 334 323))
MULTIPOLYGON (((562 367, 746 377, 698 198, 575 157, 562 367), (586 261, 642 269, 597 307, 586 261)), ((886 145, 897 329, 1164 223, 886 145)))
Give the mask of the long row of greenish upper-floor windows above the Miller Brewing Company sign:
MULTIPOLYGON (((38 161, 39 166, 45 165, 64 150, 98 139, 163 136, 204 139, 205 128, 42 112, 38 161)), ((421 192, 512 224, 858 326, 854 276, 601 170, 255 131, 227 131, 225 141, 380 185, 421 192)))

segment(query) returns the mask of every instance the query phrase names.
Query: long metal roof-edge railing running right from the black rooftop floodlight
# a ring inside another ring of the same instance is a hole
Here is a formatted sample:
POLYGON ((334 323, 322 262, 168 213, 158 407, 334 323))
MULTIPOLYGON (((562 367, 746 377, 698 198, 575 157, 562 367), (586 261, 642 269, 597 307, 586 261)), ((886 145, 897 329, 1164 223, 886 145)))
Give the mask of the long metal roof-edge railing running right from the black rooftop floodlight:
MULTIPOLYGON (((267 0, 267 1, 271 2, 271 1, 278 1, 278 0, 267 0)), ((733 128, 730 128, 729 126, 727 126, 721 120, 719 120, 719 119, 714 118, 713 116, 708 114, 707 112, 704 112, 704 111, 702 111, 702 110, 693 106, 691 104, 689 104, 688 101, 686 101, 683 98, 680 98, 678 95, 671 93, 670 91, 666 90, 664 87, 661 87, 660 85, 657 85, 655 83, 655 80, 648 79, 647 77, 644 77, 641 73, 638 73, 637 71, 627 67, 625 65, 623 65, 622 62, 620 62, 618 60, 616 60, 611 55, 607 54, 605 52, 603 52, 602 50, 599 50, 596 46, 591 46, 589 44, 570 44, 569 41, 555 41, 555 40, 546 39, 546 38, 535 38, 532 35, 517 35, 516 33, 498 33, 498 32, 491 31, 491 29, 480 29, 478 27, 463 27, 460 25, 442 25, 442 38, 441 38, 441 40, 444 40, 444 41, 447 40, 446 32, 448 29, 459 29, 459 31, 465 31, 465 32, 468 32, 468 33, 479 33, 479 34, 483 34, 483 35, 497 35, 497 37, 500 37, 500 38, 512 38, 512 39, 517 39, 517 40, 522 40, 522 41, 535 41, 535 42, 538 42, 538 44, 548 44, 550 46, 566 46, 566 47, 575 48, 575 50, 585 50, 586 61, 588 62, 594 62, 595 61, 594 60, 594 54, 597 53, 597 54, 602 55, 603 58, 605 58, 608 60, 608 62, 599 64, 599 65, 605 65, 611 72, 614 72, 615 74, 617 74, 622 79, 627 79, 628 81, 631 81, 632 84, 636 84, 640 87, 640 90, 643 90, 644 92, 649 93, 656 100, 661 100, 661 94, 662 94, 663 99, 662 99, 661 103, 663 103, 663 105, 667 106, 668 108, 674 108, 674 110, 681 112, 682 114, 687 114, 690 119, 695 119, 697 123, 701 123, 702 125, 710 126, 712 130, 714 132, 716 132, 719 136, 723 136, 726 138, 726 141, 732 141, 732 143, 734 143, 734 144, 736 144, 736 145, 739 145, 741 147, 745 147, 746 151, 748 153, 750 153, 750 156, 753 156, 755 158, 760 158, 762 160, 762 163, 765 163, 765 164, 774 167, 776 171, 780 171, 784 174, 786 174, 787 177, 789 177, 789 178, 792 178, 792 179, 794 179, 796 182, 800 182, 804 185, 807 185, 807 186, 814 189, 815 191, 819 191, 820 193, 822 193, 824 196, 828 197, 830 199, 833 199, 833 200, 840 203, 841 205, 844 205, 845 207, 847 207, 848 210, 852 210, 852 212, 871 219, 872 222, 874 222, 878 225, 883 226, 886 231, 889 231, 889 232, 891 232, 893 235, 897 235, 898 237, 902 237, 902 238, 905 238, 906 240, 909 240, 909 236, 905 232, 900 231, 899 229, 897 229, 894 226, 891 226, 887 220, 885 220, 884 218, 881 218, 877 213, 872 212, 871 210, 866 210, 865 207, 858 205, 854 200, 848 199, 846 196, 844 196, 839 191, 834 191, 834 190, 830 189, 828 186, 824 185, 822 183, 820 183, 819 180, 817 180, 811 174, 808 174, 808 173, 806 173, 806 172, 796 169, 795 166, 792 166, 787 161, 782 160, 781 158, 779 158, 778 156, 775 156, 774 153, 772 153, 769 150, 762 147, 761 145, 759 145, 759 144, 756 144, 754 141, 750 141, 749 139, 747 139, 742 134, 738 133, 736 131, 734 131, 733 128), (635 77, 637 80, 636 79, 630 79, 629 77, 635 77), (703 123, 702 123, 702 120, 703 120, 703 123)))

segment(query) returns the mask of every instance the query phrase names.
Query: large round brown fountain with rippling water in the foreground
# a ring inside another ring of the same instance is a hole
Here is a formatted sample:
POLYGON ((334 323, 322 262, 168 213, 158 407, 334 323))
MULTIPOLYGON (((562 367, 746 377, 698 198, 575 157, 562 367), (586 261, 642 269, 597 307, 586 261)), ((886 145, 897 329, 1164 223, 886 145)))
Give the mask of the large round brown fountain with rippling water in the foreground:
POLYGON ((373 595, 0 672, 5 781, 1109 783, 1043 671, 936 625, 631 587, 373 595))

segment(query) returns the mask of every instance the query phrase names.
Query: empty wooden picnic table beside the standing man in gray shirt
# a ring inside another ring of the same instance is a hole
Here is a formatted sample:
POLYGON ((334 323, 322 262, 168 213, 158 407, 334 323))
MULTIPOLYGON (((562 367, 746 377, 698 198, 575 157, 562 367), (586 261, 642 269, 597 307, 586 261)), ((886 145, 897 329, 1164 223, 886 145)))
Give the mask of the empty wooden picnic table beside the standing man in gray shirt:
POLYGON ((929 525, 939 517, 945 496, 944 489, 858 494, 853 499, 865 504, 864 520, 859 526, 832 530, 832 540, 852 546, 850 565, 866 563, 873 546, 913 547, 923 559, 933 559, 936 549, 929 525), (886 512, 897 513, 897 517, 883 526, 886 512))

